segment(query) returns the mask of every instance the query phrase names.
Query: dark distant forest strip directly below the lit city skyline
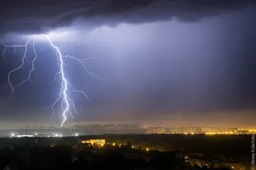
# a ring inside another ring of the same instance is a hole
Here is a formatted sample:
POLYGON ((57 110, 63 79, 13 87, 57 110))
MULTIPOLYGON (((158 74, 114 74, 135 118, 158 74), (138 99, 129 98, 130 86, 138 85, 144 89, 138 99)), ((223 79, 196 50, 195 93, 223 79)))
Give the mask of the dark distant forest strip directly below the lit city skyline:
POLYGON ((233 160, 250 164, 250 135, 86 135, 80 137, 37 137, 0 139, 0 148, 19 146, 68 145, 76 146, 79 140, 106 139, 106 143, 127 143, 141 148, 162 151, 204 153, 207 158, 233 160))

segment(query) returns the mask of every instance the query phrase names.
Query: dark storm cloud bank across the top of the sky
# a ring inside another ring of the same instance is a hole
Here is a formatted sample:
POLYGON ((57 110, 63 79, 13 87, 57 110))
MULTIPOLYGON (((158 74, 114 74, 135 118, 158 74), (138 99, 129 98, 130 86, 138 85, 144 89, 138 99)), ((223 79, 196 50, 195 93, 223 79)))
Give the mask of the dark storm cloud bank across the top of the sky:
POLYGON ((40 0, 4 1, 0 6, 0 33, 46 33, 84 19, 84 29, 120 22, 143 23, 156 20, 195 21, 244 7, 255 0, 40 0))

